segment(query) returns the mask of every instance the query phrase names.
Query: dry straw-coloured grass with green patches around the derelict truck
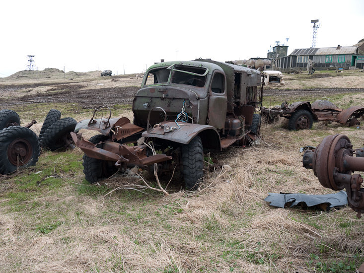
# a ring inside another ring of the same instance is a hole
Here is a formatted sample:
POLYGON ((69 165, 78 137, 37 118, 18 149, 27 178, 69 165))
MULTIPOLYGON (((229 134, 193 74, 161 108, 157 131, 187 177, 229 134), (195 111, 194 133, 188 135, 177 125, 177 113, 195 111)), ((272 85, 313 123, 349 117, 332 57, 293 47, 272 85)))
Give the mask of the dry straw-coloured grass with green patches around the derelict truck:
MULTIPOLYGON (((293 76, 297 77, 288 75, 293 76)), ((296 81, 291 82, 299 85, 296 81)), ((343 108, 364 104, 364 93, 328 98, 343 108)), ((265 101, 275 105, 282 99, 265 101)), ((77 121, 90 118, 92 112, 66 103, 12 110, 23 124, 38 120, 32 127, 38 134, 51 108, 77 121)), ((112 111, 114 117, 132 117, 131 105, 115 105, 112 111)), ((364 222, 354 211, 273 208, 264 198, 280 192, 333 193, 319 184, 312 170, 302 167, 299 147, 345 134, 359 148, 363 127, 320 122, 312 130, 292 132, 280 121, 262 125, 261 134, 257 146, 214 154, 222 167, 207 172, 198 191, 183 190, 176 174, 169 196, 115 190, 139 180, 135 176, 90 185, 78 148, 43 151, 32 168, 0 176, 0 271, 356 272, 364 262, 364 222)), ((164 178, 162 185, 168 180, 164 178)))

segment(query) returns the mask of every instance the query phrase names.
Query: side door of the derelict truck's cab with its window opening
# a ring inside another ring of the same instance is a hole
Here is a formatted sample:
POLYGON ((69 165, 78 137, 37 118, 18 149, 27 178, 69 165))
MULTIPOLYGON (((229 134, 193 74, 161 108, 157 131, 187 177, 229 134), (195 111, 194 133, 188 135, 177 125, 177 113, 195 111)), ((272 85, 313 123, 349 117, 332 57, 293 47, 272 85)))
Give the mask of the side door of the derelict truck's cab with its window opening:
POLYGON ((227 98, 225 75, 215 71, 209 89, 209 125, 216 129, 225 128, 227 98))

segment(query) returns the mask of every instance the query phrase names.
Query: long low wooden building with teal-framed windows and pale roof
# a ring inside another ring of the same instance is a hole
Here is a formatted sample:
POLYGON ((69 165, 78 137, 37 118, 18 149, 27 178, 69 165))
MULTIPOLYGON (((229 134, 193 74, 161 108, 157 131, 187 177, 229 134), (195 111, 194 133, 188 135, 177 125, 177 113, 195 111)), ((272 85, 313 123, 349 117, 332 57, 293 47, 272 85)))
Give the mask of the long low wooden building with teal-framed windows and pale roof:
POLYGON ((295 49, 289 56, 280 58, 278 68, 304 68, 310 62, 315 68, 363 68, 364 55, 358 53, 358 47, 329 47, 295 49))

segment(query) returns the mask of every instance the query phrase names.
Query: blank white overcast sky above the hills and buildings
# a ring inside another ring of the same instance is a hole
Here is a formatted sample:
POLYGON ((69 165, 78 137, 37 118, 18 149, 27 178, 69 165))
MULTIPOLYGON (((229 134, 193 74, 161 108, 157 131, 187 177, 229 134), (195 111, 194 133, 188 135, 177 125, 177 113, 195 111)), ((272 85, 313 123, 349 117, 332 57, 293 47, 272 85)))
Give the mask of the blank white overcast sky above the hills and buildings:
POLYGON ((0 77, 35 66, 142 72, 159 62, 266 58, 289 38, 289 54, 352 46, 364 38, 363 0, 1 1, 0 77))

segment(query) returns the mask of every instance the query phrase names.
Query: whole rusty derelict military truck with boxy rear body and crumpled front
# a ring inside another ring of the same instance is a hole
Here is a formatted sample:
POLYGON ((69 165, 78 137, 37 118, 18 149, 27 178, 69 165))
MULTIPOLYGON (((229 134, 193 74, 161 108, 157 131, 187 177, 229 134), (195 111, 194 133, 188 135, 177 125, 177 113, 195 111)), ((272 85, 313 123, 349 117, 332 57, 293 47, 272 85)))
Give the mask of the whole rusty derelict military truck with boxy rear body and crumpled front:
POLYGON ((101 133, 88 141, 72 133, 84 151, 86 180, 93 183, 117 169, 150 169, 157 164, 161 174, 179 167, 186 188, 197 189, 204 150, 256 139, 262 93, 261 74, 250 68, 202 59, 155 64, 135 95, 133 123, 111 118, 111 112, 102 114, 101 106, 90 120, 76 125, 75 133, 101 133), (141 137, 144 141, 138 141, 141 137))

